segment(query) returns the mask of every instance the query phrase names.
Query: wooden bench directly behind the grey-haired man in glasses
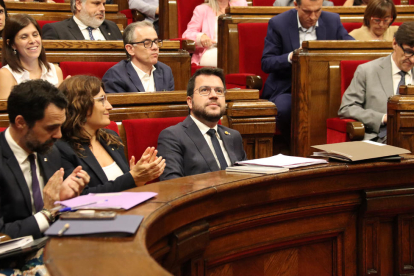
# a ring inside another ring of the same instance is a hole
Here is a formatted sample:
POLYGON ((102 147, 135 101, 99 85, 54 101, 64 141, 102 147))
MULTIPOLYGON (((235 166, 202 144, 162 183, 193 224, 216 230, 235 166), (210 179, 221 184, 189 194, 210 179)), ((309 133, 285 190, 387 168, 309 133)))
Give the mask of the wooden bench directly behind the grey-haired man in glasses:
MULTIPOLYGON (((122 41, 81 41, 81 40, 43 40, 47 60, 52 63, 62 61, 111 61, 119 62, 126 59, 122 41)), ((179 41, 163 41, 160 48, 159 61, 171 67, 175 89, 187 89, 191 77, 191 57, 181 48, 179 41)), ((0 48, 2 45, 0 45, 0 48)), ((0 51, 1 52, 1 51, 0 51)))

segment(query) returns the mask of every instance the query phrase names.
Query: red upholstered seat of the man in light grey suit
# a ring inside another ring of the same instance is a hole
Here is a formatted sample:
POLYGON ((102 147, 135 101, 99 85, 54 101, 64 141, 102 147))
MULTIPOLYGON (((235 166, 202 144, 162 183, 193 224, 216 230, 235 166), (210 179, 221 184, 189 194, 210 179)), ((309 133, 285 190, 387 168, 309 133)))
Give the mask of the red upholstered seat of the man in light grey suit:
MULTIPOLYGON (((355 70, 358 65, 368 62, 369 60, 342 60, 341 66, 341 98, 346 89, 354 78, 355 70)), ((355 122, 353 119, 328 118, 326 120, 326 142, 327 144, 340 143, 349 141, 346 132, 348 122, 355 122)))

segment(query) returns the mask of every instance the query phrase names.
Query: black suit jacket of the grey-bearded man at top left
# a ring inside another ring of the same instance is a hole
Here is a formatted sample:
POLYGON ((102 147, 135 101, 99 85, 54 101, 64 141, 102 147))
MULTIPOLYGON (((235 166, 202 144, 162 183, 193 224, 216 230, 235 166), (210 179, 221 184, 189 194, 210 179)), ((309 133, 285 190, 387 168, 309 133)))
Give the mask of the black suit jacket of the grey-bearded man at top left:
MULTIPOLYGON (((104 20, 99 29, 106 40, 122 40, 121 31, 112 21, 104 20)), ((45 24, 42 29, 42 39, 85 40, 73 17, 60 22, 45 24)))

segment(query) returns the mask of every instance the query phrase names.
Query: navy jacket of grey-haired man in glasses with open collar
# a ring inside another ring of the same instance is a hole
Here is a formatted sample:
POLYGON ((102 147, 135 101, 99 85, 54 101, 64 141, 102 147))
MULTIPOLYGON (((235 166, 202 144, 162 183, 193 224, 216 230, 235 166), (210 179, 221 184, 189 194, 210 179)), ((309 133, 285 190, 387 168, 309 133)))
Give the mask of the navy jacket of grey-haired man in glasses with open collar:
MULTIPOLYGON (((154 83, 156 91, 174 91, 174 77, 171 68, 157 62, 154 71, 154 83)), ((105 83, 106 93, 145 92, 144 86, 131 64, 131 61, 122 60, 109 68, 102 78, 105 83)))

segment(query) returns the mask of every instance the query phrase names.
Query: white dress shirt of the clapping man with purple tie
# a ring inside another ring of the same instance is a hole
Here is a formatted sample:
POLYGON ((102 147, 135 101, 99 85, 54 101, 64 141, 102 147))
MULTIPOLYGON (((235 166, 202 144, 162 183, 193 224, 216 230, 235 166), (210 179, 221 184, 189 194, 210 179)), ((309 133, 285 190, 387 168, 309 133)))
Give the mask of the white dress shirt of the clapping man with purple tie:
MULTIPOLYGON (((30 169, 29 154, 24 149, 22 149, 11 137, 10 128, 6 129, 5 137, 6 137, 7 144, 9 144, 9 147, 12 150, 14 156, 16 157, 17 163, 19 163, 21 171, 23 172, 24 179, 26 180, 26 184, 30 192, 30 201, 31 201, 31 206, 33 210, 32 214, 34 214, 36 222, 39 225, 40 232, 43 233, 49 228, 49 223, 42 213, 40 212, 36 214, 34 213, 34 210, 36 209, 34 207, 34 200, 33 200, 32 171, 30 169)), ((40 174, 40 166, 39 166, 39 162, 37 161, 37 153, 34 152, 33 154, 35 155, 35 161, 36 161, 37 179, 39 180, 40 191, 43 197, 43 187, 44 187, 45 181, 44 181, 43 176, 40 174)))

